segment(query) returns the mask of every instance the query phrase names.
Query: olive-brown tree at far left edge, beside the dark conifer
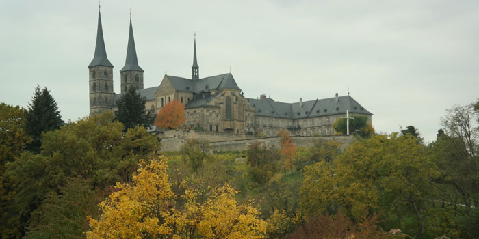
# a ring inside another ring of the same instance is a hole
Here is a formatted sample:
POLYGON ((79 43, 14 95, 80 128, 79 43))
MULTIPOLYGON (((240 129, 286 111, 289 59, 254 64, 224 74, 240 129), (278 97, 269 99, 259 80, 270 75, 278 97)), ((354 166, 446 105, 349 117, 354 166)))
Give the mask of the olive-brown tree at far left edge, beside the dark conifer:
POLYGON ((14 191, 5 178, 5 164, 25 151, 31 138, 25 132, 27 111, 0 103, 0 238, 20 236, 19 218, 14 211, 14 191))

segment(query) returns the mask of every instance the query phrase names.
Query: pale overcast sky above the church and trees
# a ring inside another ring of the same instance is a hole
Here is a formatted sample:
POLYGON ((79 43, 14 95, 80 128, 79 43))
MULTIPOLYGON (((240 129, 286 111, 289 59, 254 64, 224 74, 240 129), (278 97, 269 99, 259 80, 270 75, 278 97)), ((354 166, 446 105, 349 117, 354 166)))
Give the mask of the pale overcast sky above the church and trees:
MULTIPOLYGON (((62 119, 89 113, 98 1, 0 1, 0 102, 28 107, 47 87, 62 119)), ((164 74, 230 71, 244 96, 281 102, 338 93, 372 112, 377 132, 413 125, 435 140, 441 117, 479 98, 479 1, 101 1, 120 92, 129 12, 144 87, 164 74)))

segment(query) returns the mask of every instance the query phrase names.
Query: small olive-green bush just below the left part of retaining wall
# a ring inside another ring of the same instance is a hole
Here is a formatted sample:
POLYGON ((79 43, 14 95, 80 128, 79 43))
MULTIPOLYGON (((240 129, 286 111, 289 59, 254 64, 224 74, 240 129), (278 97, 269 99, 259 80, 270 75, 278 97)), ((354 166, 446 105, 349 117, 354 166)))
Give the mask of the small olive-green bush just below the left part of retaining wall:
POLYGON ((203 165, 203 160, 209 157, 211 148, 211 144, 206 139, 189 139, 181 147, 181 153, 185 156, 184 160, 188 160, 196 171, 198 167, 203 165))

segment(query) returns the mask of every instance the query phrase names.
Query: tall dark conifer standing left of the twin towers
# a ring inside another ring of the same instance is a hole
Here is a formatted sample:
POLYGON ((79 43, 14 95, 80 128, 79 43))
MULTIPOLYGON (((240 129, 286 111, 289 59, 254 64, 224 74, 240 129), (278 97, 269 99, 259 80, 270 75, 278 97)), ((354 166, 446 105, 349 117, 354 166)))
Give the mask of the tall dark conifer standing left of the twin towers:
POLYGON ((25 131, 33 139, 27 149, 34 153, 40 152, 42 132, 57 130, 63 124, 57 102, 51 96, 47 87, 40 89, 37 85, 34 97, 28 104, 25 131))

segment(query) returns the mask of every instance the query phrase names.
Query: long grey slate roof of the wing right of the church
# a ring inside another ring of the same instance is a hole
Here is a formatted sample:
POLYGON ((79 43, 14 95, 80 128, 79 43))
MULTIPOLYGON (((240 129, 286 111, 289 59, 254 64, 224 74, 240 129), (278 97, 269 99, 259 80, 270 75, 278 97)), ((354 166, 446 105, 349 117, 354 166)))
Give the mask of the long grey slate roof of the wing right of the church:
POLYGON ((364 109, 351 96, 339 96, 338 102, 335 98, 325 98, 318 100, 309 100, 295 103, 283 103, 272 100, 271 98, 253 99, 247 98, 251 106, 255 108, 255 115, 266 117, 281 117, 284 119, 304 119, 309 117, 327 116, 344 114, 346 110, 350 113, 360 113, 363 115, 372 115, 370 111, 364 109))

